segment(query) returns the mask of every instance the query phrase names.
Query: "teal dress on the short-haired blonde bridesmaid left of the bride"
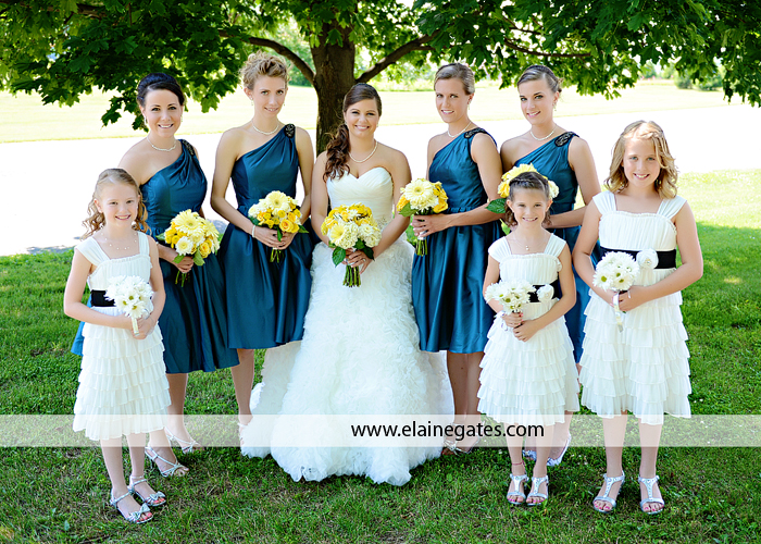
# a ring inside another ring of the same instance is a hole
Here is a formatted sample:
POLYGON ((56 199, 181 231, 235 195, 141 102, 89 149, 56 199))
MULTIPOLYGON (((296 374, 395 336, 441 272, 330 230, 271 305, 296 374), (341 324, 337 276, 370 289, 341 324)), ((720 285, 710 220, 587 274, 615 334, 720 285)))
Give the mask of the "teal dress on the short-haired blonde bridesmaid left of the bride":
MULTIPOLYGON (((289 124, 235 162, 232 178, 238 211, 248 217, 251 206, 273 190, 296 197, 298 173, 296 129, 289 124)), ((229 347, 265 349, 301 339, 312 287, 312 249, 309 234, 298 233, 280 261, 270 262, 269 246, 229 224, 220 248, 229 347)))

